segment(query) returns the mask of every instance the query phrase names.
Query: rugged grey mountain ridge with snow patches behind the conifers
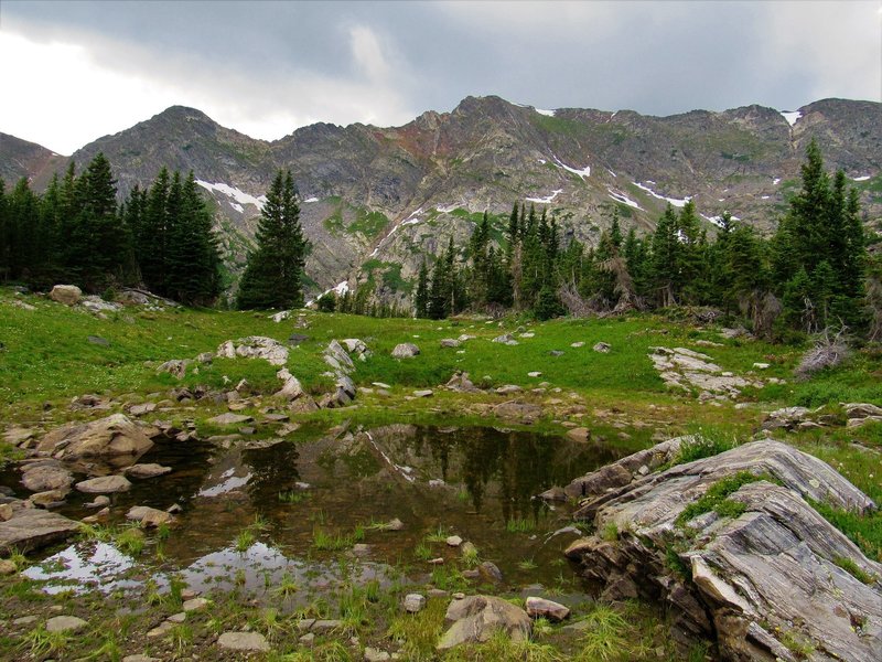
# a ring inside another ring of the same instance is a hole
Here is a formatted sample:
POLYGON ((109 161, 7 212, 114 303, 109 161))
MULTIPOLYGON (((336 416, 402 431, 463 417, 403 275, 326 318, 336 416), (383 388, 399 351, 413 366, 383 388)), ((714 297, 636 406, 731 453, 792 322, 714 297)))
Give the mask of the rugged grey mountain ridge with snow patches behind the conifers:
MULTIPOLYGON (((161 166, 192 169, 214 201, 234 269, 244 261, 273 172, 290 168, 313 245, 311 289, 373 273, 387 293, 401 295, 423 253, 451 235, 462 243, 485 210, 499 215, 501 233, 515 201, 547 209, 564 236, 588 243, 614 207, 625 229, 650 232, 668 202, 681 206, 687 197, 709 227, 729 211, 770 232, 798 188, 811 138, 827 167, 842 168, 861 191, 868 223, 878 223, 881 118, 882 104, 845 99, 792 113, 746 106, 652 117, 540 110, 491 96, 467 97, 451 113, 428 111, 401 127, 316 124, 267 142, 175 106, 73 159, 82 166, 104 151, 122 193, 148 184, 161 166)), ((26 151, 15 140, 4 138, 0 162, 26 151)), ((52 170, 47 163, 63 167, 40 149, 31 160, 15 160, 37 185, 52 170)))

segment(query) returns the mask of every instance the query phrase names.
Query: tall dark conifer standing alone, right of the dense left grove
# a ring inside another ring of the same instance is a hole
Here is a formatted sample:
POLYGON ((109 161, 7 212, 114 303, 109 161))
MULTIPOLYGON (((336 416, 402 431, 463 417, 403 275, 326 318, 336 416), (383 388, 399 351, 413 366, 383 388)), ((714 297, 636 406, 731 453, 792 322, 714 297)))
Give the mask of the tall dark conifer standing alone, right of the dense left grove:
POLYGON ((291 171, 281 170, 260 212, 257 247, 248 256, 239 285, 239 308, 292 308, 303 305, 303 267, 308 244, 291 171))

